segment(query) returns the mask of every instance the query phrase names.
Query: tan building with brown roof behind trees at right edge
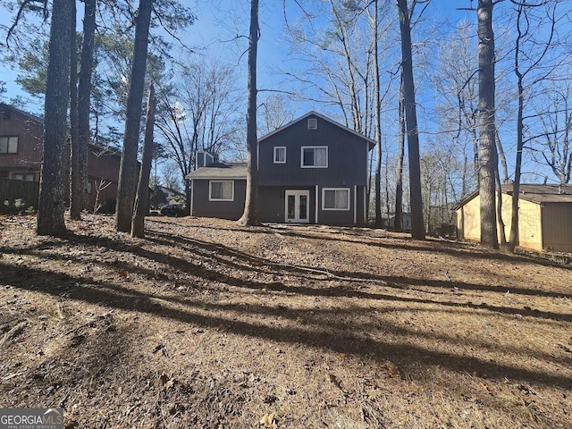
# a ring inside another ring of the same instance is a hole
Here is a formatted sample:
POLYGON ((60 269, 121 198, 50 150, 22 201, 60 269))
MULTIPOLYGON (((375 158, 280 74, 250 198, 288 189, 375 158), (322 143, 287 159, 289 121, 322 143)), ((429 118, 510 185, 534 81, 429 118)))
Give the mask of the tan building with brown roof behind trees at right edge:
MULTIPOLYGON (((512 185, 502 185, 502 221, 509 240, 512 185)), ((454 208, 461 240, 481 240, 481 198, 478 191, 454 208)), ((521 184, 518 195, 517 246, 572 252, 572 185, 521 184)))

